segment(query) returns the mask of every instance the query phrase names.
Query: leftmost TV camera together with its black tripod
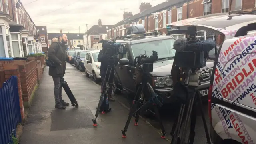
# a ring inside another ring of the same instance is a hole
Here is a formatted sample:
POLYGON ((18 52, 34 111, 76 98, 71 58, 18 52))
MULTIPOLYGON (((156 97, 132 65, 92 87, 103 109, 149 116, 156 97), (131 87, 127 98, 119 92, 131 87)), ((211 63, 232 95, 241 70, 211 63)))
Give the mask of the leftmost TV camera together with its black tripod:
MULTIPOLYGON (((99 43, 101 42, 102 42, 103 54, 105 54, 107 58, 106 61, 108 62, 108 68, 106 70, 105 78, 103 81, 100 100, 98 103, 98 107, 96 108, 97 110, 96 110, 95 118, 92 119, 93 126, 97 126, 96 120, 99 116, 99 112, 101 112, 102 114, 105 114, 111 111, 111 108, 109 106, 109 101, 108 101, 108 94, 111 93, 111 90, 113 88, 113 79, 117 78, 118 81, 121 82, 120 77, 118 76, 118 73, 116 72, 116 68, 115 68, 116 64, 118 63, 117 55, 126 54, 124 45, 122 45, 121 43, 116 43, 115 41, 109 42, 107 40, 101 40, 99 43)), ((120 90, 119 88, 116 88, 116 89, 120 90)))

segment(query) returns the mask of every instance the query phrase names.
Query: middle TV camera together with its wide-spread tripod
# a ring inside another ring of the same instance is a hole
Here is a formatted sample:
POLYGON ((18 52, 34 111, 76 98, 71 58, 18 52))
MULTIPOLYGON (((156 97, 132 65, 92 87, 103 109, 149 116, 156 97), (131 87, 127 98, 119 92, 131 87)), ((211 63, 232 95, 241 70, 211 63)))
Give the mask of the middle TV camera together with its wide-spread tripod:
MULTIPOLYGON (((126 132, 132 116, 135 117, 134 125, 138 126, 138 120, 140 116, 140 112, 148 109, 149 106, 153 105, 155 115, 160 123, 160 127, 162 130, 161 138, 165 138, 166 132, 164 130, 164 126, 162 121, 160 120, 158 106, 162 106, 162 99, 155 94, 152 86, 148 83, 148 77, 150 72, 153 72, 153 63, 158 59, 158 54, 156 51, 152 51, 152 56, 147 56, 146 54, 142 54, 137 56, 134 59, 134 67, 136 67, 136 73, 140 73, 140 76, 136 75, 136 95, 134 100, 132 101, 132 107, 129 112, 128 119, 126 121, 125 127, 122 130, 122 137, 126 138, 126 132), (138 78, 140 77, 140 78, 138 78), (140 80, 138 80, 140 79, 140 80), (144 93, 144 97, 141 97, 142 92, 144 93), (146 94, 147 97, 146 96, 146 94)), ((126 58, 120 59, 120 65, 126 65, 129 63, 129 60, 126 58)))

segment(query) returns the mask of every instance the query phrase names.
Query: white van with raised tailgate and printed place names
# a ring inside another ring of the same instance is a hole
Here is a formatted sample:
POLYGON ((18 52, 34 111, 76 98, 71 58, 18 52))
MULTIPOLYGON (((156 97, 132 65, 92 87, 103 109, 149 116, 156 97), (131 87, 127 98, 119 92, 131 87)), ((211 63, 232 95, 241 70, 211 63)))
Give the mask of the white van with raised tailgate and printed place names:
POLYGON ((203 39, 210 31, 216 36, 219 48, 208 92, 213 144, 256 143, 256 54, 246 54, 256 52, 256 29, 247 29, 252 23, 255 14, 221 13, 169 24, 180 30, 194 25, 203 39))

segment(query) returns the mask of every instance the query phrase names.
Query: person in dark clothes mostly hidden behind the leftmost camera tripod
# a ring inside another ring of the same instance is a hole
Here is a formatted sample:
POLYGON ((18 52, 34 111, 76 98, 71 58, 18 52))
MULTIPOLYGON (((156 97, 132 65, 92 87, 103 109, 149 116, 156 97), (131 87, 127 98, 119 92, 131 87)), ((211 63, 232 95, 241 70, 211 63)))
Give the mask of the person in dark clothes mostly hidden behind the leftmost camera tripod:
MULTIPOLYGON (((108 55, 104 52, 104 50, 100 50, 99 55, 98 55, 98 62, 100 62, 100 77, 101 77, 101 89, 103 87, 104 84, 104 79, 106 76, 106 80, 108 80, 109 74, 110 72, 107 73, 107 69, 108 69, 108 55)), ((110 71, 110 70, 109 70, 110 71)), ((108 84, 113 83, 113 77, 111 77, 108 81, 108 84)), ((111 101, 115 101, 115 99, 113 98, 112 94, 112 87, 110 87, 110 92, 108 93, 108 99, 111 101)))

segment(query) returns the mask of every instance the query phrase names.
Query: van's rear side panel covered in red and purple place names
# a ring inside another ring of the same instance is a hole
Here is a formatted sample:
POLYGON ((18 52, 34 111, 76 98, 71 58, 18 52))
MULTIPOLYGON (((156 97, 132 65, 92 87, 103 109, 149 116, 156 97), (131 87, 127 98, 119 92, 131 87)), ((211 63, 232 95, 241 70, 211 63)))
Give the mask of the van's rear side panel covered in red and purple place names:
POLYGON ((235 36, 222 43, 216 56, 208 95, 213 144, 256 143, 256 15, 253 16, 251 23, 241 23, 235 36))

